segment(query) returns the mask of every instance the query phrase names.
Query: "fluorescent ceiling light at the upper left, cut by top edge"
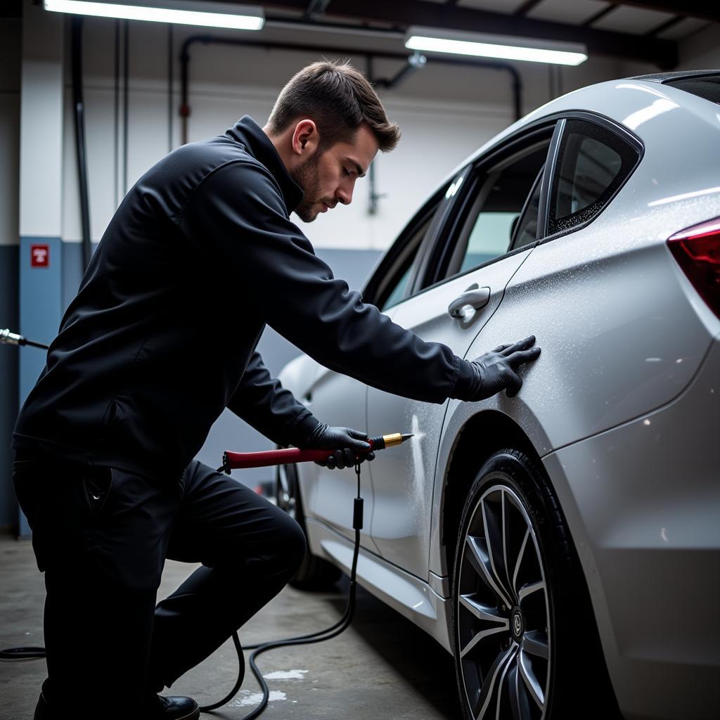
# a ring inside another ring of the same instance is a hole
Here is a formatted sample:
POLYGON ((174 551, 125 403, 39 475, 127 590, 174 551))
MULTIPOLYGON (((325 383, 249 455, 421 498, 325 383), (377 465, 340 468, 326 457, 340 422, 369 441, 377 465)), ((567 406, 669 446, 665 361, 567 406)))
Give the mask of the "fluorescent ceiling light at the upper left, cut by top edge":
POLYGON ((236 30, 261 30, 265 14, 261 7, 220 2, 188 0, 43 0, 46 10, 124 20, 173 22, 202 27, 233 27, 236 30))

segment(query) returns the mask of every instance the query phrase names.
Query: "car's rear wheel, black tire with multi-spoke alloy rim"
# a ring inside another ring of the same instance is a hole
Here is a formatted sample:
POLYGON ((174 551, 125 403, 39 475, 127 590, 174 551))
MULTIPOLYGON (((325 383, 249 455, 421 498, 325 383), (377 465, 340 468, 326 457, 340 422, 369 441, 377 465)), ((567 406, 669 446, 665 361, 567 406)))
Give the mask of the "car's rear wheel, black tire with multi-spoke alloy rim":
POLYGON ((619 717, 557 498, 520 451, 492 455, 469 490, 451 616, 467 720, 619 717))

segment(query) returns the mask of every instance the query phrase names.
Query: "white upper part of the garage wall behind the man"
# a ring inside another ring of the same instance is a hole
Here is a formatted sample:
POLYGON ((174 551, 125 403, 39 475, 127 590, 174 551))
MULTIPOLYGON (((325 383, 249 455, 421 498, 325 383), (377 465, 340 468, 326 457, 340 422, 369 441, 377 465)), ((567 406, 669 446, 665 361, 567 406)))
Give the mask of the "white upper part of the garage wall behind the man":
MULTIPOLYGON (((275 31, 285 39, 288 31, 275 31), (284 34, 283 34, 284 32, 284 34)), ((297 31, 287 36, 298 42, 297 31)), ((85 32, 86 136, 88 145, 91 234, 99 240, 117 198, 114 163, 114 33, 112 20, 89 19, 85 32)), ((175 29, 175 57, 182 39, 192 30, 175 29)), ((215 31, 213 35, 227 32, 215 31)), ((236 35, 239 37, 239 35, 236 35)), ((244 37, 249 37, 245 35, 244 37)), ((257 39, 253 35, 253 40, 257 39)), ((128 184, 138 179, 168 152, 167 60, 168 30, 154 23, 130 23, 130 120, 128 122, 128 184)), ((333 42, 325 33, 314 42, 333 42)), ((336 39, 334 42, 338 42, 336 39)), ((353 42, 358 42, 354 39, 353 42)), ((121 43, 122 44, 122 43, 121 43)), ((384 40, 383 47, 402 52, 402 42, 384 40)), ((361 69, 366 60, 353 50, 327 53, 349 58, 361 69)), ((195 44, 191 48, 189 140, 225 131, 243 114, 264 125, 272 103, 290 76, 317 60, 315 52, 237 48, 195 44)), ((377 60, 377 77, 390 77, 402 66, 398 60, 377 60)), ((593 58, 578 68, 562 69, 562 91, 593 82, 655 68, 593 58)), ((550 75, 546 66, 526 63, 518 70, 523 80, 523 113, 547 102, 550 75)), ((174 107, 179 107, 179 63, 175 63, 174 107)), ((79 241, 77 175, 71 123, 68 76, 66 91, 65 163, 63 168, 63 239, 79 241)), ((380 94, 392 119, 400 122, 402 140, 392 153, 377 158, 379 211, 369 215, 369 181, 356 186, 354 202, 318 218, 304 230, 318 248, 384 250, 413 211, 443 177, 485 140, 513 121, 510 74, 503 71, 451 67, 429 63, 397 89, 380 94)), ((122 101, 122 92, 121 92, 122 101)), ((122 158, 122 108, 120 112, 122 158)), ((179 117, 174 117, 173 145, 180 143, 179 117)), ((122 161, 120 163, 122 166, 122 161)), ((122 194, 122 192, 121 192, 122 194)))

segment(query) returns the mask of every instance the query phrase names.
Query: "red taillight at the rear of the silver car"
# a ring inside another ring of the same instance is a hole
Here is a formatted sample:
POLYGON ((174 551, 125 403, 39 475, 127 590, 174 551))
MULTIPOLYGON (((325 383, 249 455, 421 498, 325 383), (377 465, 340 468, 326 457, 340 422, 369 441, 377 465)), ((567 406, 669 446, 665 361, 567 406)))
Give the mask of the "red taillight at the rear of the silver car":
POLYGON ((700 297, 720 318, 720 217, 675 233, 667 246, 700 297))

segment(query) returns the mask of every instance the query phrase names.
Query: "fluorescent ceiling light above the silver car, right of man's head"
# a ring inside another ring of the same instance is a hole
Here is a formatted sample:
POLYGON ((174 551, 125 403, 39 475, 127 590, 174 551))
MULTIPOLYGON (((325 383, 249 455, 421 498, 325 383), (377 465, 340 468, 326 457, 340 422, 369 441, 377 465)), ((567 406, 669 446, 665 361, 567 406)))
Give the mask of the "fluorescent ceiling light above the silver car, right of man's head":
POLYGON ((556 65, 580 65, 588 59, 588 50, 580 42, 455 32, 432 27, 410 27, 405 35, 405 47, 408 50, 421 50, 423 53, 475 55, 480 58, 528 60, 531 63, 556 65))

